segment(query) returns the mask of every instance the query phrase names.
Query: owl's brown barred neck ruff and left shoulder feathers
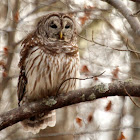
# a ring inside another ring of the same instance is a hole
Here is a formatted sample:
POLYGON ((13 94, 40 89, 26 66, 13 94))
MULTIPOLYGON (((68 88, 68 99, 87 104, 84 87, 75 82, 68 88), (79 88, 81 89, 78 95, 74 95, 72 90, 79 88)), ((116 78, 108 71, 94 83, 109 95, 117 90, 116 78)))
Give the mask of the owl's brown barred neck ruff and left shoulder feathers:
POLYGON ((24 64, 25 59, 28 56, 30 49, 38 46, 46 53, 58 54, 65 53, 69 56, 77 56, 78 54, 78 46, 75 43, 67 43, 67 42, 48 42, 48 40, 43 40, 36 36, 35 33, 31 33, 28 37, 22 42, 22 50, 20 52, 21 59, 19 62, 19 67, 24 64))

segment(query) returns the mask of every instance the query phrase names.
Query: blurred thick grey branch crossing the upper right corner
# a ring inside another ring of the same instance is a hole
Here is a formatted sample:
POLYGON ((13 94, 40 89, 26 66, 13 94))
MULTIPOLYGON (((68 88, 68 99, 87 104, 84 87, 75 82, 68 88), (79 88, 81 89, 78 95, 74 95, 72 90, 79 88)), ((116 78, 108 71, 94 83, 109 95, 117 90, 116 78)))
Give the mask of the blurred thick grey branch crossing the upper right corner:
POLYGON ((140 22, 137 17, 132 16, 131 10, 121 0, 103 0, 116 8, 128 21, 132 29, 140 36, 140 22))

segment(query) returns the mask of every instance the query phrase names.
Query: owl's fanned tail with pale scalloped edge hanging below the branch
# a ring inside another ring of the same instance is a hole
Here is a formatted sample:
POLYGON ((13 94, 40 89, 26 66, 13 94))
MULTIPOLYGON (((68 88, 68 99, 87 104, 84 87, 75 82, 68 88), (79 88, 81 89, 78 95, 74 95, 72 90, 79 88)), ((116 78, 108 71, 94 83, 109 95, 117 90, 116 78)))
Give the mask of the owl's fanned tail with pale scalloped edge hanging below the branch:
POLYGON ((24 129, 33 134, 38 133, 41 129, 45 129, 47 126, 53 127, 56 124, 56 111, 50 111, 47 114, 39 114, 30 119, 21 122, 24 129))

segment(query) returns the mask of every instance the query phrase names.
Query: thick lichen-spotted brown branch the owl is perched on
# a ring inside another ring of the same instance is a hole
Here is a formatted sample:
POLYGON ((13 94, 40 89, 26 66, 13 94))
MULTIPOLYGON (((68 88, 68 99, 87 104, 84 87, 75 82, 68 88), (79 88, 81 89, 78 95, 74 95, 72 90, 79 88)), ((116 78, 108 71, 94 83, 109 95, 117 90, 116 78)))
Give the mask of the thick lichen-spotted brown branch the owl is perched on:
POLYGON ((86 89, 70 91, 58 97, 43 99, 3 113, 0 115, 0 130, 38 113, 80 102, 93 101, 102 97, 128 96, 128 93, 131 96, 140 97, 140 85, 132 82, 115 82, 108 85, 100 84, 86 89))

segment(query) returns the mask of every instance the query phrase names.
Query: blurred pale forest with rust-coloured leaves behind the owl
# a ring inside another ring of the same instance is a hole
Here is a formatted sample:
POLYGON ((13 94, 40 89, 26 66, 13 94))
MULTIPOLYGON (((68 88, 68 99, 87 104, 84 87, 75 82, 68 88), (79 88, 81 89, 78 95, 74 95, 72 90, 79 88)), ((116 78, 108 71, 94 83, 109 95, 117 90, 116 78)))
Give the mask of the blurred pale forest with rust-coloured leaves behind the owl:
MULTIPOLYGON (((121 0, 132 13, 140 4, 121 0)), ((114 7, 100 0, 0 0, 0 114, 16 108, 21 42, 50 12, 73 16, 78 32, 80 81, 98 83, 140 78, 139 36, 114 7), (132 50, 132 51, 129 51, 132 50)), ((137 15, 139 18, 139 15, 137 15)), ((139 99, 137 99, 139 102, 139 99)), ((0 140, 140 140, 140 109, 129 97, 108 97, 57 110, 57 125, 37 135, 20 123, 0 132, 0 140)))

